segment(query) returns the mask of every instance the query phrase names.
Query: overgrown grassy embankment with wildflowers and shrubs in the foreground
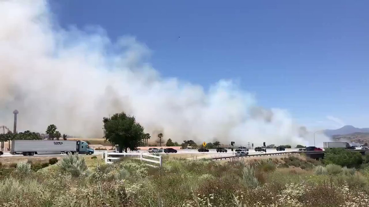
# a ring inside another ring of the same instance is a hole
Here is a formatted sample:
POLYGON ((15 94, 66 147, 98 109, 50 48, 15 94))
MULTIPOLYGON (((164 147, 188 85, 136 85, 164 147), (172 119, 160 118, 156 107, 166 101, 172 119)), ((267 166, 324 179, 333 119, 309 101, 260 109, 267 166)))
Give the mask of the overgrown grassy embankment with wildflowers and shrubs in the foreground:
POLYGON ((0 206, 368 206, 369 169, 297 157, 248 162, 166 158, 162 168, 62 158, 18 164, 0 180, 0 206), (26 179, 25 179, 26 178, 26 179))

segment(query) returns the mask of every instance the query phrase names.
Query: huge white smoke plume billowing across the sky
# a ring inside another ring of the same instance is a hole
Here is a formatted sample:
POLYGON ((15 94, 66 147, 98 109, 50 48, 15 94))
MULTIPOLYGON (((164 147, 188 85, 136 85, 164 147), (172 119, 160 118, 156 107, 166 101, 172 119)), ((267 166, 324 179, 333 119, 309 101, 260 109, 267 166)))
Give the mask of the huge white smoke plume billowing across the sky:
MULTIPOLYGON (((163 78, 150 50, 133 37, 111 42, 100 27, 64 29, 42 0, 0 1, 0 125, 102 137, 102 118, 134 115, 165 140, 246 145, 307 144, 311 133, 281 109, 262 109, 237 84, 200 85, 163 78)), ((189 60, 190 61, 190 60, 189 60)))

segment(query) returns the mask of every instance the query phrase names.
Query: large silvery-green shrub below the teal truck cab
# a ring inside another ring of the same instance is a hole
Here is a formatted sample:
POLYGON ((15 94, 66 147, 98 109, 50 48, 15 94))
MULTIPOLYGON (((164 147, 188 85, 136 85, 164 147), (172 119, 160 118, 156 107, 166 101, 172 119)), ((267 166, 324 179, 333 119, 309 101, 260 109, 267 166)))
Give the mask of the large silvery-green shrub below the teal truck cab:
POLYGON ((62 172, 68 172, 73 177, 82 175, 86 169, 86 161, 83 157, 79 157, 77 154, 69 154, 67 157, 63 157, 57 164, 62 172))

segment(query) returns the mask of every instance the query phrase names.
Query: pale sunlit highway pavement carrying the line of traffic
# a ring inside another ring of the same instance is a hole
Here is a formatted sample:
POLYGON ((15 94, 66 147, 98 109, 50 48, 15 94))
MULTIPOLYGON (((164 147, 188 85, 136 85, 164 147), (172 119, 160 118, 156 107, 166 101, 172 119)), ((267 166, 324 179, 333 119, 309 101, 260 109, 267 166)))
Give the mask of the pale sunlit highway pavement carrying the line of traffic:
MULTIPOLYGON (((110 152, 113 152, 112 150, 109 150, 110 152)), ((291 148, 291 149, 286 149, 285 151, 277 151, 276 149, 266 149, 266 152, 256 152, 254 149, 250 149, 249 150, 249 154, 270 154, 270 153, 276 153, 276 152, 292 152, 292 151, 299 151, 298 148, 291 148)), ((96 150, 95 153, 93 155, 101 155, 101 153, 103 153, 103 150, 96 150)), ((131 152, 131 151, 128 151, 131 152)), ((138 150, 137 153, 149 153, 146 150, 138 150)), ((132 153, 132 152, 131 152, 132 153)), ((133 152, 134 153, 134 152, 133 152)), ((234 154, 235 152, 233 152, 234 154)), ((155 153, 156 154, 156 153, 155 153)), ((232 155, 232 151, 227 149, 227 152, 217 152, 215 149, 210 149, 209 152, 199 152, 197 150, 189 150, 189 149, 185 149, 185 150, 177 150, 177 153, 164 153, 164 152, 160 152, 158 154, 207 154, 207 155, 211 155, 211 157, 226 157, 226 156, 231 156, 232 155)), ((9 152, 4 152, 3 155, 1 155, 0 157, 19 157, 19 156, 23 156, 23 155, 12 155, 9 152)), ((53 157, 53 156, 66 156, 65 154, 46 154, 46 155, 34 155, 34 156, 27 156, 27 157, 53 157)), ((82 156, 85 156, 82 154, 82 156)), ((26 156, 23 156, 26 157, 26 156)))

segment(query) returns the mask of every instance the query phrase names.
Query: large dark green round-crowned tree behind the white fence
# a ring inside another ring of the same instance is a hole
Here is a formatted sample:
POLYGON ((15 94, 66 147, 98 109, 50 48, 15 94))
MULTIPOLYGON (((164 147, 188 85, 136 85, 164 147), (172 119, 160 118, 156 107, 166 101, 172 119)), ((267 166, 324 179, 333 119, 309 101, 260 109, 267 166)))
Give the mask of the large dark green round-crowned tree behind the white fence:
POLYGON ((119 152, 127 148, 135 151, 144 136, 144 127, 136 122, 134 116, 127 116, 124 112, 116 113, 110 118, 104 117, 104 138, 112 144, 118 144, 119 152))

